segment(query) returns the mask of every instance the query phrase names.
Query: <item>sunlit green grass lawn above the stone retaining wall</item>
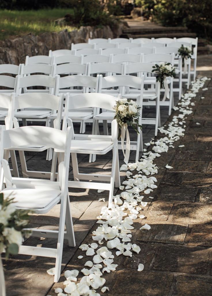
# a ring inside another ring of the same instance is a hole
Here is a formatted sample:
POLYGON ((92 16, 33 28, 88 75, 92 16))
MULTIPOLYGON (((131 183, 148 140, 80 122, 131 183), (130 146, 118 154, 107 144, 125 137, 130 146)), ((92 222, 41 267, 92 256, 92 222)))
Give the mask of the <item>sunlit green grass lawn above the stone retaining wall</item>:
POLYGON ((0 9, 0 40, 28 33, 59 32, 74 27, 59 26, 54 20, 72 14, 72 9, 2 10, 0 9))

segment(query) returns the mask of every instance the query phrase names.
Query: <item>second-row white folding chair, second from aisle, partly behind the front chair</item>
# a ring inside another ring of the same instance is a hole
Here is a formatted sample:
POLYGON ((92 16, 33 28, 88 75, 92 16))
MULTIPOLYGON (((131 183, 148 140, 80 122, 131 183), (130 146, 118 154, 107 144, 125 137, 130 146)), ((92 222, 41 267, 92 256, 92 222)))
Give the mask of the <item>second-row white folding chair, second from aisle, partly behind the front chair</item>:
MULTIPOLYGON (((13 118, 14 127, 15 128, 19 127, 19 123, 18 123, 17 118, 28 118, 29 117, 28 113, 29 113, 31 118, 34 120, 39 120, 39 119, 45 118, 47 121, 47 119, 55 119, 54 120, 54 128, 60 129, 61 128, 63 100, 64 100, 63 94, 61 94, 60 96, 54 96, 54 95, 45 94, 45 93, 43 93, 43 94, 42 93, 33 93, 33 94, 22 94, 20 96, 15 97, 14 110, 21 109, 22 111, 15 111, 14 112, 14 117, 15 117, 15 118, 13 118), (42 111, 42 113, 39 114, 37 109, 35 109, 35 111, 34 111, 35 115, 33 115, 33 111, 31 111, 33 108, 41 108, 42 110, 45 110, 45 111, 42 111), (44 108, 46 108, 46 109, 44 109, 44 108), (52 115, 52 117, 50 117, 51 115, 52 115)), ((48 173, 48 172, 43 172, 43 171, 39 172, 39 171, 28 170, 26 160, 25 160, 25 154, 24 154, 24 151, 42 152, 47 149, 48 149, 48 147, 45 147, 45 146, 22 147, 22 149, 19 149, 20 163, 21 163, 21 168, 22 168, 22 174, 24 177, 26 177, 26 178, 28 178, 28 177, 50 178, 50 173, 48 173)), ((51 153, 52 153, 52 151, 48 150, 47 160, 51 159, 51 156, 52 156, 51 153)))

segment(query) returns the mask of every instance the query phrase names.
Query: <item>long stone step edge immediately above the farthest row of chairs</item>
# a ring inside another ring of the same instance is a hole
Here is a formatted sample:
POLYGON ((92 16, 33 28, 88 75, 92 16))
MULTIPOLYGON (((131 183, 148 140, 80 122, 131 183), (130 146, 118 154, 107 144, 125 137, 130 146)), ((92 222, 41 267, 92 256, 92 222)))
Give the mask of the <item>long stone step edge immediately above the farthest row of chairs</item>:
POLYGON ((176 33, 155 33, 154 30, 152 30, 149 34, 143 34, 143 31, 140 32, 141 34, 126 34, 122 33, 123 36, 127 36, 127 38, 161 38, 161 37, 167 37, 167 38, 181 38, 181 37, 191 37, 196 38, 196 33, 189 33, 189 32, 176 32, 176 33))

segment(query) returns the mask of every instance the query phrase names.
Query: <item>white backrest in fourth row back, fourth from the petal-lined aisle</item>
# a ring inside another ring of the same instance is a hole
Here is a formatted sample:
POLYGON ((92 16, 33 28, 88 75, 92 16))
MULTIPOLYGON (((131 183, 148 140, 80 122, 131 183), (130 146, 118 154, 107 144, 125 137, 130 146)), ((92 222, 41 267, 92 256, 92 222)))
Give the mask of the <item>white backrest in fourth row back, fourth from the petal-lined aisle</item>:
POLYGON ((20 75, 28 75, 33 73, 43 73, 45 75, 54 75, 54 66, 47 64, 21 64, 20 75))

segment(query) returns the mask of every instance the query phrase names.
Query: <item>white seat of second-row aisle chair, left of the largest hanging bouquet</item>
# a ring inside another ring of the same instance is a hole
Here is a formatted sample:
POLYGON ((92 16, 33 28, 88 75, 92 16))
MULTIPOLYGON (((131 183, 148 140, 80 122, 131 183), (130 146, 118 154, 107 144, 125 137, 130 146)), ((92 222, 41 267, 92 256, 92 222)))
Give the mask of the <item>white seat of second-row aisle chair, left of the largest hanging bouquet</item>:
POLYGON ((111 141, 97 141, 95 140, 72 140, 71 152, 73 153, 85 153, 85 151, 95 151, 97 154, 105 154, 111 150, 113 142, 111 141), (98 153, 99 152, 99 153, 98 153))

